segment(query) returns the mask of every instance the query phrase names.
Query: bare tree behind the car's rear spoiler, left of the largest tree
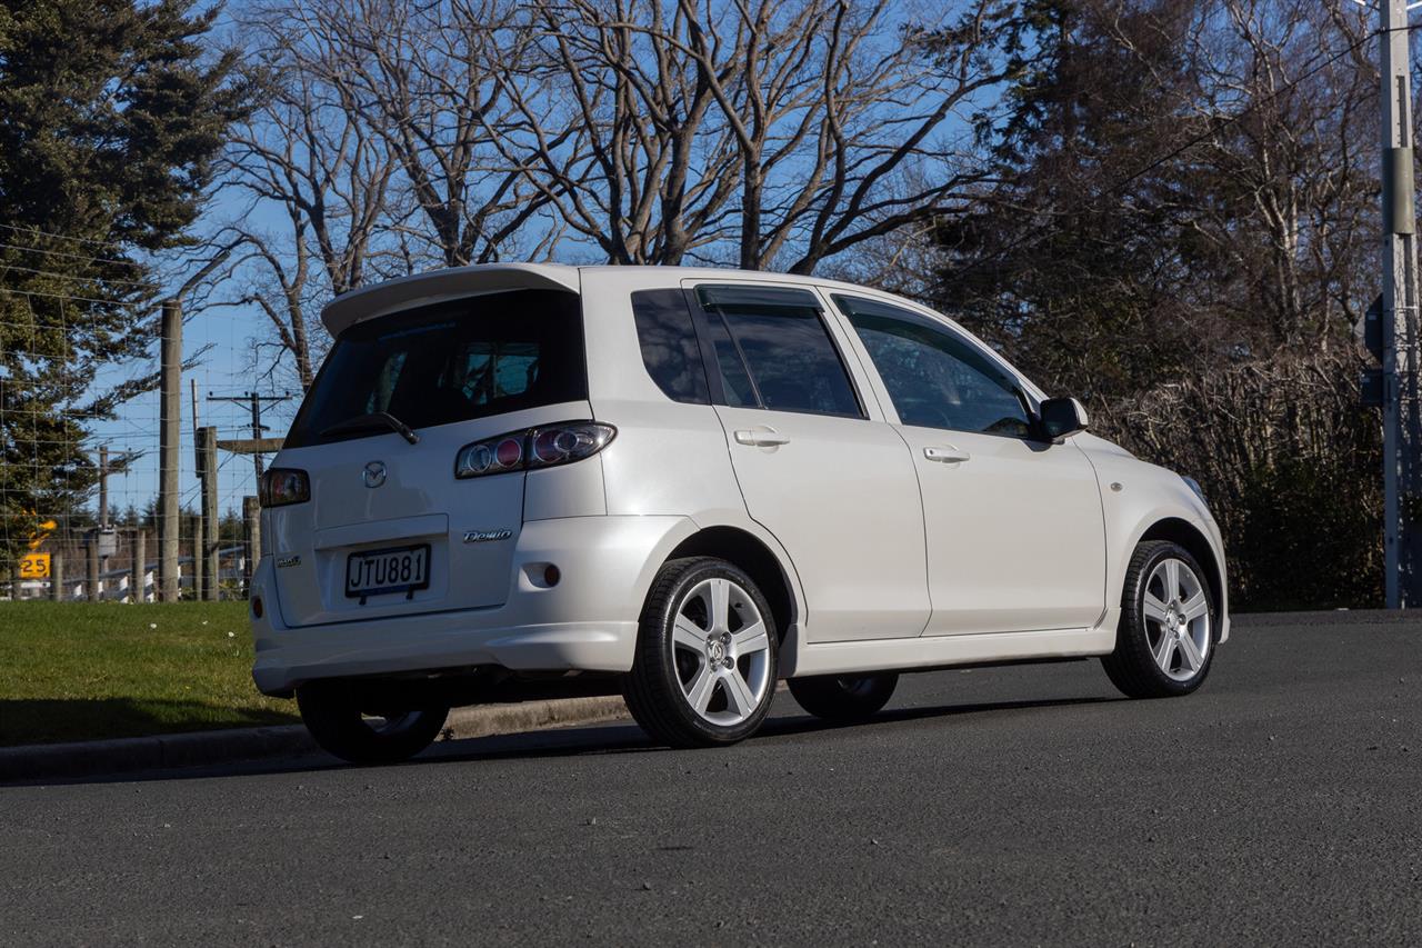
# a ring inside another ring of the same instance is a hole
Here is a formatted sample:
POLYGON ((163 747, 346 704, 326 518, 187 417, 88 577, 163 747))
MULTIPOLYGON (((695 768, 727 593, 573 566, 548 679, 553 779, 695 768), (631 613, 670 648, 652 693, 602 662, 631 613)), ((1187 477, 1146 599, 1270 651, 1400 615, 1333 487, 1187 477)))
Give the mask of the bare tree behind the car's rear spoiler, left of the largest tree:
POLYGON ((499 259, 510 246, 540 256, 556 228, 528 239, 546 195, 493 145, 509 110, 496 70, 522 73, 530 43, 510 0, 306 0, 296 16, 314 43, 307 68, 398 164, 397 186, 422 218, 408 236, 445 266, 499 259))

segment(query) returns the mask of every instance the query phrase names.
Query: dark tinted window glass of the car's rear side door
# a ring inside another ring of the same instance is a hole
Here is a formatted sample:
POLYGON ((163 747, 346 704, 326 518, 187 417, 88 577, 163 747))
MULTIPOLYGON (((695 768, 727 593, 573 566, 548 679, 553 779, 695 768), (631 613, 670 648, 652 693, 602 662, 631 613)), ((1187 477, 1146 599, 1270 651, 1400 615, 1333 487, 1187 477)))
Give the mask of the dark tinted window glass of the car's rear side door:
POLYGON ((698 295, 728 404, 863 417, 813 293, 702 286, 698 295))

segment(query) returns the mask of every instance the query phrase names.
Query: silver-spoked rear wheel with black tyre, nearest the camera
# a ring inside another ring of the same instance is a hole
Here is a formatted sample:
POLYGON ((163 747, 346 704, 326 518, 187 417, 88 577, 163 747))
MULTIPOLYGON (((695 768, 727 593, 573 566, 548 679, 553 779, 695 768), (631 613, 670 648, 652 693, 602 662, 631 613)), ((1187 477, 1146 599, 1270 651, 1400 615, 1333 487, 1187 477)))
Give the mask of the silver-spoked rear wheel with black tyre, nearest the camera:
POLYGON ((643 606, 623 696, 661 743, 732 744, 771 710, 776 646, 769 604, 744 571, 711 557, 673 559, 643 606))

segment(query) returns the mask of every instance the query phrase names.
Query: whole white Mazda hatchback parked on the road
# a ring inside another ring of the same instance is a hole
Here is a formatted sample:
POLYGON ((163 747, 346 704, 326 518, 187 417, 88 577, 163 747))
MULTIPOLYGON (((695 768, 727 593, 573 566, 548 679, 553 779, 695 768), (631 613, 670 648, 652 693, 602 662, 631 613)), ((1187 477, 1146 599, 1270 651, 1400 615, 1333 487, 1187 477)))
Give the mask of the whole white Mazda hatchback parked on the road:
POLYGON ((262 484, 253 678, 353 762, 449 707, 621 693, 673 746, 779 679, 1101 656, 1185 695, 1229 636, 1199 488, 951 320, 718 269, 485 265, 347 293, 262 484))

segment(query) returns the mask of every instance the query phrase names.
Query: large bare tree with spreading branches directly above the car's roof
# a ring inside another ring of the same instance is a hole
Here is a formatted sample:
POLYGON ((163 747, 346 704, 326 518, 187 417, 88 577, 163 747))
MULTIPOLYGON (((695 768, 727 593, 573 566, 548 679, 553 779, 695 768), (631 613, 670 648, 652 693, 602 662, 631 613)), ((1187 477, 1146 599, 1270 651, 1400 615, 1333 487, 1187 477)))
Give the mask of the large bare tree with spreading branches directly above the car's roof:
POLYGON ((808 273, 954 212, 984 175, 970 112, 1020 67, 1004 43, 1015 7, 995 0, 913 27, 892 26, 887 0, 530 10, 542 63, 501 73, 523 121, 493 137, 624 263, 808 273))

